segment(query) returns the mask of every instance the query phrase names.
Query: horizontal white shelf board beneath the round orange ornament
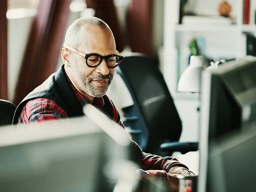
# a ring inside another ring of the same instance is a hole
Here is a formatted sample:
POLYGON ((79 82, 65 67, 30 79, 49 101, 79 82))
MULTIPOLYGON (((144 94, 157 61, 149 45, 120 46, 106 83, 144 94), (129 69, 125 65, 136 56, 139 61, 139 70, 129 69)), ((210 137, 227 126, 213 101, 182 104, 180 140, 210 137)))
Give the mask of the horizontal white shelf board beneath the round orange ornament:
POLYGON ((227 24, 180 24, 175 26, 176 32, 190 31, 254 31, 256 25, 227 25, 227 24))

